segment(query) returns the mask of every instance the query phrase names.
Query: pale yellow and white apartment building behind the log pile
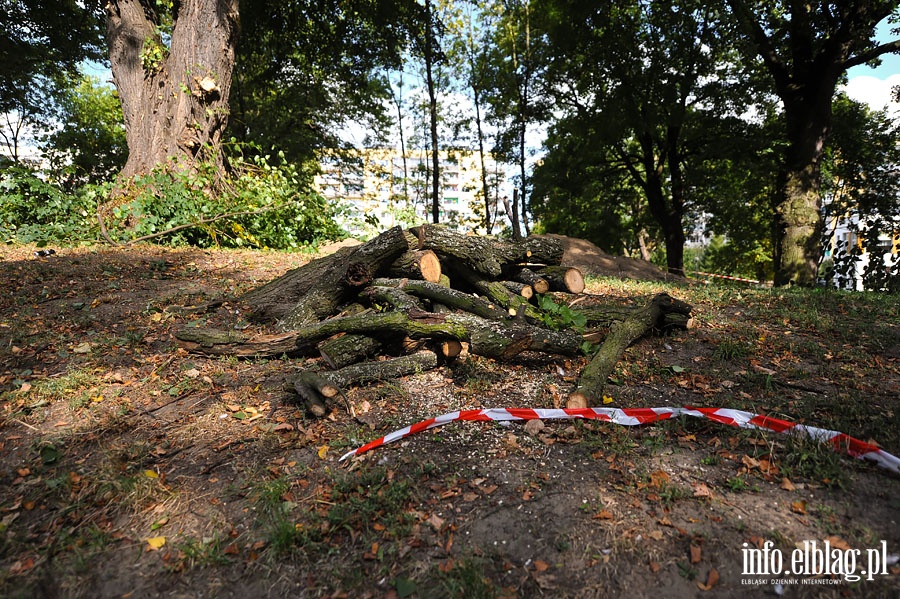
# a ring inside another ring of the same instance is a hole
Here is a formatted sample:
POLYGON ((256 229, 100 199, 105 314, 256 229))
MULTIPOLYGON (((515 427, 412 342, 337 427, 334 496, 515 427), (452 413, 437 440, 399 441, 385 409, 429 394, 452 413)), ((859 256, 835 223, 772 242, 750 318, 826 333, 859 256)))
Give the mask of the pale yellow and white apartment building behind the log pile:
MULTIPOLYGON (((484 215, 481 160, 470 150, 439 152, 440 222, 460 230, 474 230, 484 215)), ((386 228, 430 222, 432 157, 425 150, 403 154, 394 148, 327 150, 319 160, 316 190, 346 208, 344 226, 355 235, 386 228), (405 162, 405 164, 404 164, 405 162)), ((485 156, 491 193, 505 172, 492 156, 485 156)), ((492 197, 496 202, 496 197, 492 197)), ((491 212, 496 211, 492 205, 491 212)))

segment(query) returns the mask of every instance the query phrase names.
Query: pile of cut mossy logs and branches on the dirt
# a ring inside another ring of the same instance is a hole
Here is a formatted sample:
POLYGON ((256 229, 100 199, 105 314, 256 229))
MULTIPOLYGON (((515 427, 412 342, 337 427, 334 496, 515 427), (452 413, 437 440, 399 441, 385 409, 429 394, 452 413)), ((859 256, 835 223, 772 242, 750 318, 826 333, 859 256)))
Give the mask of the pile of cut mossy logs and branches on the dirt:
POLYGON ((321 356, 321 368, 290 382, 320 416, 343 389, 435 368, 464 344, 496 360, 524 351, 589 354, 567 404, 589 407, 628 345, 655 328, 688 328, 691 307, 667 294, 630 310, 571 306, 561 325, 547 307, 568 305, 585 287, 578 269, 560 266, 562 257, 549 237, 515 242, 439 225, 395 227, 238 298, 253 320, 279 332, 185 328, 176 338, 207 355, 321 356))

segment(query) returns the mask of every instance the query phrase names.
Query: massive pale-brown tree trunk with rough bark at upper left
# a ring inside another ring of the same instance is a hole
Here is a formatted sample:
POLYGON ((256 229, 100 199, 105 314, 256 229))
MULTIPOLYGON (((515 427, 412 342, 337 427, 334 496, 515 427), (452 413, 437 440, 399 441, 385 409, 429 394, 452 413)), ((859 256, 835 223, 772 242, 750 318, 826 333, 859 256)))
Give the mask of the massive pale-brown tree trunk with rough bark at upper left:
POLYGON ((122 176, 168 160, 221 164, 228 92, 238 37, 238 0, 175 3, 171 44, 161 39, 151 0, 110 0, 107 35, 122 101, 128 162, 122 176))

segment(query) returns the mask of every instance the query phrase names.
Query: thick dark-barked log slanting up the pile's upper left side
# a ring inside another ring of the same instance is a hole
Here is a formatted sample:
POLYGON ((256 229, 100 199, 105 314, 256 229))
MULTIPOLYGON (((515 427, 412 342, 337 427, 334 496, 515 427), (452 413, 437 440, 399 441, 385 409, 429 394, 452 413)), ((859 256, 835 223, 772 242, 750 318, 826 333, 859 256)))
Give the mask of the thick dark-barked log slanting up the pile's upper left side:
POLYGON ((341 303, 409 250, 394 227, 362 245, 314 260, 244 295, 257 320, 279 319, 282 330, 332 316, 341 303))

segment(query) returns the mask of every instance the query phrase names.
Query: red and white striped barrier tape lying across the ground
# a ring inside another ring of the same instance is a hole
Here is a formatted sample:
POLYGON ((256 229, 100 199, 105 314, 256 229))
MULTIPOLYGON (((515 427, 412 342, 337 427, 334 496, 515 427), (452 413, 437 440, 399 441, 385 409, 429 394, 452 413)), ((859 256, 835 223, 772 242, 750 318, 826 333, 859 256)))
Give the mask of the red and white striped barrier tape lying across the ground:
POLYGON ((797 424, 787 420, 771 418, 761 414, 752 414, 742 410, 728 408, 558 408, 558 409, 530 409, 530 408, 485 408, 482 410, 461 410, 450 412, 435 418, 429 418, 422 422, 396 430, 380 439, 366 443, 362 447, 354 449, 341 457, 341 461, 386 445, 398 439, 414 435, 416 433, 443 426, 455 421, 510 421, 510 420, 553 420, 569 418, 586 418, 600 420, 625 426, 649 424, 660 420, 668 420, 676 416, 693 416, 695 418, 708 418, 715 422, 737 426, 740 428, 764 429, 776 433, 802 434, 821 443, 828 443, 838 452, 844 452, 859 459, 871 460, 882 468, 900 474, 900 458, 894 456, 877 446, 860 441, 838 431, 830 431, 814 426, 797 424))

